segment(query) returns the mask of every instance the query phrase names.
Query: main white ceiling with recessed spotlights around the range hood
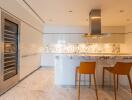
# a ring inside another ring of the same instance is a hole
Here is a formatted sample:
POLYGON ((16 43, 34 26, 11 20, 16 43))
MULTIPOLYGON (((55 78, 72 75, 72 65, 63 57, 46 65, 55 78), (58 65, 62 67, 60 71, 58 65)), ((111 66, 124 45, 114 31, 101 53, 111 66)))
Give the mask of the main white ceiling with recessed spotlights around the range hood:
POLYGON ((122 26, 132 22, 132 0, 26 0, 47 24, 87 26, 89 11, 102 9, 102 23, 122 26), (120 12, 123 10, 124 12, 120 12), (68 12, 72 11, 72 12, 68 12))

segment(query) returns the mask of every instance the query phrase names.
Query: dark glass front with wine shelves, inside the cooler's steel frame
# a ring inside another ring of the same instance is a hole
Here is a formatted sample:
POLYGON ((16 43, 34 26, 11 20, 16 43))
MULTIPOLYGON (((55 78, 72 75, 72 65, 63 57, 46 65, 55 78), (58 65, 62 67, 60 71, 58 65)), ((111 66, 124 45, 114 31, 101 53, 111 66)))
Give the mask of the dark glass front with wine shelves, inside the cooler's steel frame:
POLYGON ((17 74, 18 67, 18 25, 10 20, 4 20, 3 32, 3 79, 10 79, 17 74))

